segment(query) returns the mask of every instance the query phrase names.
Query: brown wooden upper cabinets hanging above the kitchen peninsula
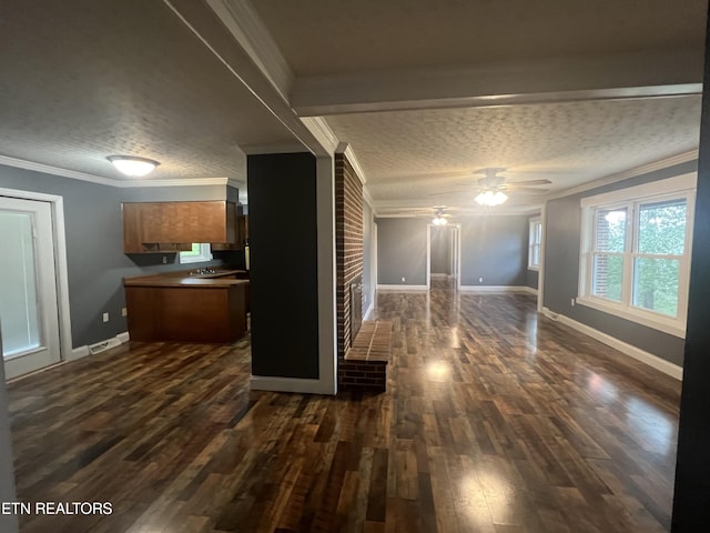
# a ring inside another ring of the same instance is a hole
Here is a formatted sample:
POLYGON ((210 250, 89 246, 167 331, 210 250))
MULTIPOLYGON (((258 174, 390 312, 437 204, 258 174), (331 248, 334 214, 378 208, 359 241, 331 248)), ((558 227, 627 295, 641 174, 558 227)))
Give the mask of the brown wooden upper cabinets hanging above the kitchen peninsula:
POLYGON ((123 203, 123 251, 150 253, 190 250, 193 242, 241 241, 237 205, 206 202, 123 203))

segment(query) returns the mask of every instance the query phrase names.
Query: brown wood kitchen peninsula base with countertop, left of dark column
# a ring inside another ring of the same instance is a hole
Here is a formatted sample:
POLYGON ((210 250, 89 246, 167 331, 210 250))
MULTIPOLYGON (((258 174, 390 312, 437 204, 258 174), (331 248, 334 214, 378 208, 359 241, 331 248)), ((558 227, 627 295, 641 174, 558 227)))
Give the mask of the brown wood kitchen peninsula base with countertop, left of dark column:
POLYGON ((125 278, 131 341, 233 342, 246 334, 244 271, 125 278))

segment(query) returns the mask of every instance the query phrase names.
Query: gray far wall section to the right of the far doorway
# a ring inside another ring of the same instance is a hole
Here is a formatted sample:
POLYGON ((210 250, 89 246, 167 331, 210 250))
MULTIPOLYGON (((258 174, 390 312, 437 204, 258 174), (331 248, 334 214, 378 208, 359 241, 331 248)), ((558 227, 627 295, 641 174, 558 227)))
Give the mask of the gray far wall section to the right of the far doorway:
POLYGON ((462 285, 527 284, 527 217, 470 217, 460 223, 462 285))

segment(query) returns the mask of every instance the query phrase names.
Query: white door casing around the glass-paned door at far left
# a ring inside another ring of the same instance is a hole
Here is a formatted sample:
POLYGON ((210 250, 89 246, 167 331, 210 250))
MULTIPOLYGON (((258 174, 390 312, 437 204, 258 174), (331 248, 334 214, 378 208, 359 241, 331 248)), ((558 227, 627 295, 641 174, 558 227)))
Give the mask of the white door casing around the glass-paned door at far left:
POLYGON ((64 231, 64 199, 55 194, 0 188, 0 197, 48 202, 52 212, 54 242, 54 273, 57 275, 57 312, 59 318, 59 358, 71 359, 71 318, 69 306, 69 269, 67 266, 67 238, 64 231))

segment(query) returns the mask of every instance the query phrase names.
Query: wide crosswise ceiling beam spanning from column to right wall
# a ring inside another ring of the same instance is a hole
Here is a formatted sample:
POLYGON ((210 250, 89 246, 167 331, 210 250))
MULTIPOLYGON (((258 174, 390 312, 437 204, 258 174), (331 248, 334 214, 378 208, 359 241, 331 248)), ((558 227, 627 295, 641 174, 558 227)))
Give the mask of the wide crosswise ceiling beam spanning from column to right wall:
POLYGON ((702 61, 702 49, 681 49, 296 77, 291 104, 313 117, 699 94, 702 61))

